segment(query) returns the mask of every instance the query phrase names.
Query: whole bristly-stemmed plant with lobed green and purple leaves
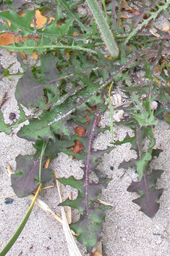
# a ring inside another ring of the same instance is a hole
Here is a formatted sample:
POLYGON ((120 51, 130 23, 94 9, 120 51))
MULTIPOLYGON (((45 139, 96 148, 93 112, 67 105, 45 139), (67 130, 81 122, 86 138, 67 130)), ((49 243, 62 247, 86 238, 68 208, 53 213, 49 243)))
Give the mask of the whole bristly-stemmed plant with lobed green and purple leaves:
MULTIPOLYGON (((5 1, 1 2, 5 4, 5 1)), ((162 41, 159 45, 149 31, 140 31, 148 21, 169 7, 169 1, 141 1, 142 4, 137 5, 137 17, 131 18, 128 35, 124 35, 126 19, 121 15, 124 5, 116 0, 104 4, 107 24, 98 2, 87 2, 93 14, 91 16, 77 12, 82 1, 31 1, 39 7, 36 5, 37 9, 28 9, 26 13, 22 13, 22 9, 27 7, 22 1, 7 1, 12 10, 0 12, 0 28, 3 31, 0 44, 1 48, 17 52, 23 73, 20 73, 22 77, 15 91, 20 117, 10 125, 4 124, 3 113, 0 112, 0 131, 10 134, 19 124, 29 121, 17 132, 17 136, 34 142, 36 153, 16 158, 17 169, 12 175, 12 188, 18 197, 30 195, 40 183, 39 165, 44 141, 46 150, 41 161, 41 183, 53 177, 50 168, 43 168, 47 158, 55 159, 62 151, 82 160, 85 165, 82 180, 72 176, 59 179, 64 185, 71 185, 78 191, 77 199, 67 199, 61 205, 69 205, 81 213, 80 220, 70 227, 78 234, 77 240, 91 252, 101 239, 102 222, 109 209, 98 204, 97 198, 110 179, 105 176, 101 178, 103 176, 98 175, 101 170, 96 173, 98 183, 90 181, 89 176, 98 168, 101 156, 113 148, 103 151, 92 148, 94 137, 110 129, 101 129, 100 119, 107 108, 103 99, 111 81, 115 85, 122 82, 119 89, 132 102, 124 107, 129 117, 121 124, 134 129, 135 137, 126 137, 121 143, 132 143, 138 158, 122 163, 121 167, 135 167, 139 181, 132 182, 128 191, 140 194, 135 203, 146 215, 153 217, 158 211, 162 190, 156 189, 156 180, 163 171, 150 170, 153 156, 161 152, 153 150, 153 127, 157 124, 156 116, 163 114, 166 120, 169 119, 167 114, 170 108, 166 98, 167 88, 165 91, 165 87, 158 87, 154 68, 170 49, 163 49, 162 41), (38 58, 41 65, 25 65, 21 53, 25 58, 27 55, 38 58), (153 62, 153 68, 148 60, 153 62), (134 71, 137 65, 145 70, 149 84, 137 80, 134 71), (140 83, 138 87, 134 85, 136 82, 140 83), (153 100, 161 105, 157 113, 150 108, 153 100), (22 105, 32 107, 33 113, 26 116, 22 105), (145 138, 149 141, 147 151, 143 151, 141 144, 145 138)), ((160 36, 162 40, 167 39, 163 32, 160 32, 160 36)), ((162 70, 165 66, 168 65, 163 60, 162 70)), ((0 66, 0 70, 1 80, 10 77, 8 69, 0 66)), ((161 76, 165 79, 163 73, 161 76)), ((121 143, 116 142, 115 145, 121 143)))

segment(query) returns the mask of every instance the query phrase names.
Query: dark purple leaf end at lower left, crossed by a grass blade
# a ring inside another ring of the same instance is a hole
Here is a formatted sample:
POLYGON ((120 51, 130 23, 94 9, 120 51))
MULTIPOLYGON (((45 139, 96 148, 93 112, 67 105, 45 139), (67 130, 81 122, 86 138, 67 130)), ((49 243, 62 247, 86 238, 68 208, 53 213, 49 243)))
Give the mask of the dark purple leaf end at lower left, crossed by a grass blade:
MULTIPOLYGON (((12 188, 17 197, 29 196, 39 185, 39 167, 40 156, 17 156, 17 168, 14 175, 11 176, 12 188)), ((51 170, 43 169, 45 164, 43 159, 41 164, 41 183, 51 180, 54 177, 51 170)))

